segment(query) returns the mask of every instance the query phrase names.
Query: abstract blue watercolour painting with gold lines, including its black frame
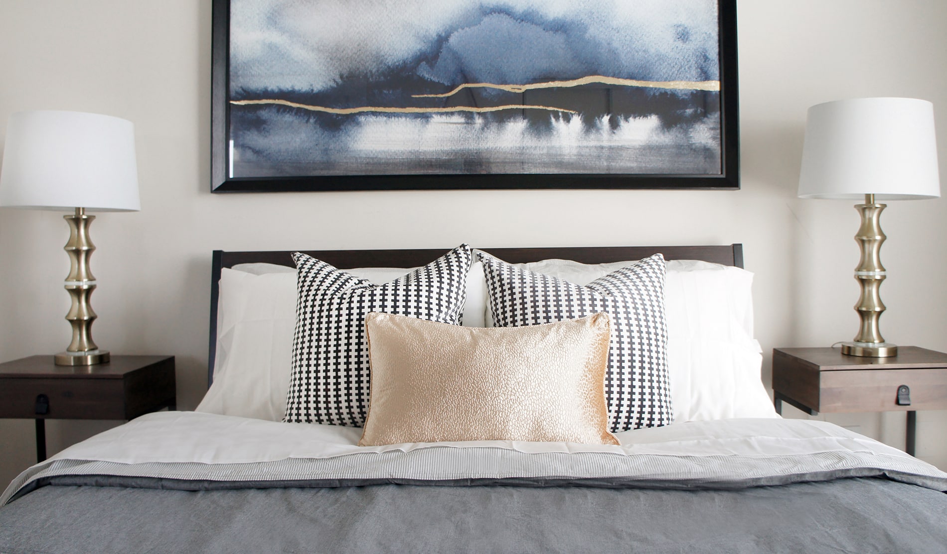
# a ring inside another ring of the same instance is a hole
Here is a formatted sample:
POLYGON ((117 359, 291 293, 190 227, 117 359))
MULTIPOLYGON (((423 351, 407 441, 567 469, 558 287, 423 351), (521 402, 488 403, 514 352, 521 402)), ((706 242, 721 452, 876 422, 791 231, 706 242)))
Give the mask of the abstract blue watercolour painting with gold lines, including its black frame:
POLYGON ((214 0, 214 192, 737 189, 736 0, 214 0))

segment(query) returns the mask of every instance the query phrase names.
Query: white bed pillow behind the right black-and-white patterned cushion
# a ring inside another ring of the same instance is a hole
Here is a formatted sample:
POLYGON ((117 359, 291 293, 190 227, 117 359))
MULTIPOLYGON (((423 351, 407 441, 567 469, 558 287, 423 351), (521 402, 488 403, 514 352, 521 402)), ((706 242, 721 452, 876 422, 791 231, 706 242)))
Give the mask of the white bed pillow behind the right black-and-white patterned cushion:
MULTIPOLYGON (((635 261, 517 264, 588 285, 635 261)), ((665 277, 668 372, 675 422, 777 418, 760 378, 762 350, 753 338, 753 273, 697 260, 670 260, 665 277)), ((493 320, 487 307, 487 326, 493 320)))

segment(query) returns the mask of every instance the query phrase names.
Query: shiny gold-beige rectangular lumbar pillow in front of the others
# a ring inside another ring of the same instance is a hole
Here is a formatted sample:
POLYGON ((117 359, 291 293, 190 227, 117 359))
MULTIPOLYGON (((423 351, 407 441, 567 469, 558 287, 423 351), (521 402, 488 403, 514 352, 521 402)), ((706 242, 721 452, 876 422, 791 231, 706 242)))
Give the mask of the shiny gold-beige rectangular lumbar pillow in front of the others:
POLYGON ((607 314, 475 328, 366 316, 371 407, 360 446, 439 441, 617 444, 607 314))

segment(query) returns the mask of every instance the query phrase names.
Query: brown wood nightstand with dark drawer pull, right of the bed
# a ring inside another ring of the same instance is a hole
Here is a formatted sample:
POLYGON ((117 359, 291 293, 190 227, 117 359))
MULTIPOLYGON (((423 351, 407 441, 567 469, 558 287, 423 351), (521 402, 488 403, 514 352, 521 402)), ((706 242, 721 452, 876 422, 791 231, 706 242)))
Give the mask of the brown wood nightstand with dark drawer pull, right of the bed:
POLYGON ((907 412, 904 451, 914 456, 918 409, 947 409, 947 354, 899 346, 898 355, 843 355, 837 348, 773 349, 773 403, 806 413, 907 412))

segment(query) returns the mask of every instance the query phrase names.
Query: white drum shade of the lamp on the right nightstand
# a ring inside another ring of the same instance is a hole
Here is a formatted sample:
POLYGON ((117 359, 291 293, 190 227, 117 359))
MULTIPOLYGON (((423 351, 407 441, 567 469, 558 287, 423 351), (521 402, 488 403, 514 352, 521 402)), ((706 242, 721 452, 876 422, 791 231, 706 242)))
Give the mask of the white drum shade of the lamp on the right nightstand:
POLYGON ((940 196, 934 106, 854 98, 809 109, 799 197, 879 201, 940 196))

